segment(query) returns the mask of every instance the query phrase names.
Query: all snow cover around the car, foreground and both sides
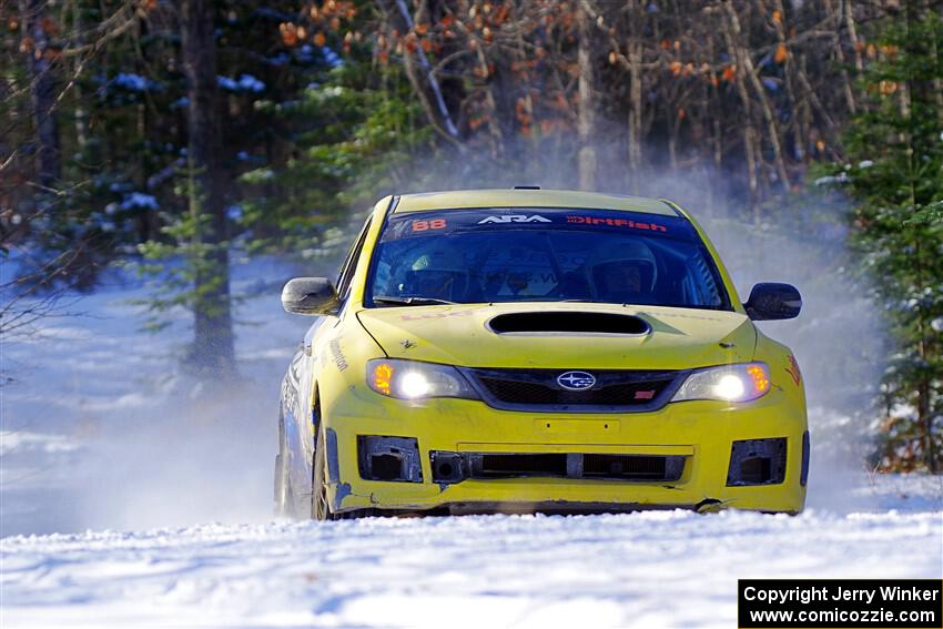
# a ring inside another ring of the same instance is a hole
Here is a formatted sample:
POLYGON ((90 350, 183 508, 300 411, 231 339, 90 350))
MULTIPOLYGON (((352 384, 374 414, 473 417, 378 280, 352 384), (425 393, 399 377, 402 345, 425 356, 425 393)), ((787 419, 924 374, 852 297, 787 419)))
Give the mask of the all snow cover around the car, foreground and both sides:
POLYGON ((281 311, 291 275, 274 263, 236 270, 237 290, 260 298, 237 312, 251 325, 235 390, 179 375, 186 317, 140 333, 129 300, 149 286, 124 275, 77 305, 85 316, 3 344, 4 629, 732 627, 737 578, 943 577, 943 479, 848 463, 855 394, 835 402, 848 378, 833 366, 866 362, 842 353, 861 328, 815 305, 768 329, 810 384, 801 516, 272 521, 278 384, 308 323, 281 311), (822 347, 828 362, 813 359, 822 347))

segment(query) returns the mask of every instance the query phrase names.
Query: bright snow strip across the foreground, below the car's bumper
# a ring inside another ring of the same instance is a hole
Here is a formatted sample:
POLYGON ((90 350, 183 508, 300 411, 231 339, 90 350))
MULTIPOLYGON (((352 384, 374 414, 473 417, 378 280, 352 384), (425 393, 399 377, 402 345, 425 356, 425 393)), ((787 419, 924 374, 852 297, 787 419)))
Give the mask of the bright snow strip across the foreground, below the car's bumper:
POLYGON ((939 578, 941 535, 939 511, 650 511, 14 537, 3 626, 733 627, 738 578, 939 578))

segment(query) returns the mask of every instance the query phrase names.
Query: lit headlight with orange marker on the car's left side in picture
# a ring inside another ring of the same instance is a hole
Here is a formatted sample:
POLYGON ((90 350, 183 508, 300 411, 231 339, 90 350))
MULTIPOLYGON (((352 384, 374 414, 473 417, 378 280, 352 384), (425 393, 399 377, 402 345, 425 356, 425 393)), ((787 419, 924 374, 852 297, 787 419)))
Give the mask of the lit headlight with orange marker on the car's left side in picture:
POLYGON ((427 397, 478 399, 478 394, 458 369, 433 363, 388 358, 369 361, 367 362, 367 385, 381 395, 399 399, 427 397))

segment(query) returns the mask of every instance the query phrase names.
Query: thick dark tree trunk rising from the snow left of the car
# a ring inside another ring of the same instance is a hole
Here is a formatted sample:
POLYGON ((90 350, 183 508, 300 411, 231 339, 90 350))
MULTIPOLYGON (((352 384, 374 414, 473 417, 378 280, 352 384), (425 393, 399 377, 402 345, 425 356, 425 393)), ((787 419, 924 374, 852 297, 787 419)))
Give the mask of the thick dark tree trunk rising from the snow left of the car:
POLYGON ((226 214, 216 97, 213 3, 180 0, 183 69, 187 81, 190 212, 196 225, 192 363, 205 375, 235 373, 226 214))

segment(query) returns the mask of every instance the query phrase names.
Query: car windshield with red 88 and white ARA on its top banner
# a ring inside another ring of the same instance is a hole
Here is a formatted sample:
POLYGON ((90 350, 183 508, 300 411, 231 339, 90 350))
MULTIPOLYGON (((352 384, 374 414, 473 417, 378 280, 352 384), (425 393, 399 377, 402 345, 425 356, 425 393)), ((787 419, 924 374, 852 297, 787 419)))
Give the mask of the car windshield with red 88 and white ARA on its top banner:
POLYGON ((368 306, 562 302, 730 310, 710 255, 681 217, 597 210, 393 214, 368 306))

